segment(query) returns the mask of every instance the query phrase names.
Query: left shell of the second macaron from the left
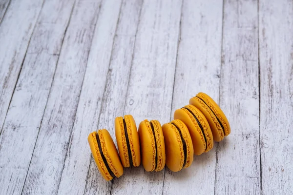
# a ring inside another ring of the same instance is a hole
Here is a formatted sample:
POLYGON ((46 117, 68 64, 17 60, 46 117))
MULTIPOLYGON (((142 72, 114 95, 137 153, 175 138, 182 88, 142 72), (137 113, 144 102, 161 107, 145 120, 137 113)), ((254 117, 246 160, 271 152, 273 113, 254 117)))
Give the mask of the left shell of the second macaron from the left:
POLYGON ((124 132, 123 117, 115 118, 115 136, 117 140, 117 146, 119 150, 121 163, 124 167, 130 167, 126 137, 124 132))

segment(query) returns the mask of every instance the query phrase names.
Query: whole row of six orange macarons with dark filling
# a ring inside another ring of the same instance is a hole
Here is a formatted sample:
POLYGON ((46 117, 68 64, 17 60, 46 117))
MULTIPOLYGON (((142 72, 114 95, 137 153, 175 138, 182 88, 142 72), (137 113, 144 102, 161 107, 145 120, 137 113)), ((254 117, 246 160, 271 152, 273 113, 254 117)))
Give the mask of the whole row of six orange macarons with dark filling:
POLYGON ((174 172, 187 168, 193 155, 201 155, 230 134, 230 125, 220 107, 207 94, 199 93, 189 105, 175 111, 174 120, 161 126, 158 120, 136 123, 131 115, 116 117, 118 151, 109 132, 93 132, 88 142, 99 171, 106 180, 123 175, 123 167, 161 171, 165 164, 174 172))

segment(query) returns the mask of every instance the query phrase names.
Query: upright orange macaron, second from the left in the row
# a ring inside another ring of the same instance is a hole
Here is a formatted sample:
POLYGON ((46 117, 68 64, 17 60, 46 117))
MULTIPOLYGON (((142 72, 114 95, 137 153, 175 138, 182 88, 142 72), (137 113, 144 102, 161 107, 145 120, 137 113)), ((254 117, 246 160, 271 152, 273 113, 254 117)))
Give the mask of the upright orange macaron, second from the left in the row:
POLYGON ((131 115, 115 118, 115 136, 124 167, 138 167, 141 163, 139 137, 131 115))

